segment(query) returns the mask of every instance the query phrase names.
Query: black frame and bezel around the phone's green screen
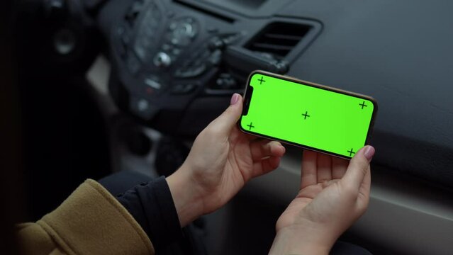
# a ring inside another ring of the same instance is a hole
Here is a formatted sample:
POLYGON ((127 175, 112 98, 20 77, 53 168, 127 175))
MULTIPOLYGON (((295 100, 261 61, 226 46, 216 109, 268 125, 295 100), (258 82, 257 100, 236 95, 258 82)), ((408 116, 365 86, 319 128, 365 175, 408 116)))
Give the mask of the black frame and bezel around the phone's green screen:
POLYGON ((378 105, 377 105, 376 99, 372 98, 371 96, 366 96, 366 95, 354 93, 354 92, 351 92, 351 91, 345 91, 343 89, 336 89, 336 88, 332 88, 330 86, 325 86, 325 85, 321 85, 321 84, 315 84, 315 83, 310 82, 310 81, 303 81, 301 79, 296 79, 294 77, 283 76, 283 75, 280 75, 280 74, 274 74, 272 72, 266 72, 266 71, 262 71, 262 70, 255 70, 255 71, 251 72, 249 74, 249 77, 247 78, 247 84, 245 86, 245 90, 244 90, 244 94, 243 94, 244 103, 243 103, 242 113, 241 113, 241 116, 240 116, 239 120, 237 121, 237 127, 242 132, 245 132, 245 133, 251 134, 251 135, 256 135, 257 137, 262 137, 262 138, 266 138, 266 139, 270 139, 270 140, 276 140, 276 141, 283 142, 283 143, 288 144, 288 145, 294 145, 296 147, 301 147, 303 149, 310 149, 310 150, 313 150, 315 152, 322 152, 324 154, 329 154, 329 155, 332 155, 332 156, 335 156, 335 157, 340 157, 342 159, 352 159, 352 157, 347 157, 347 156, 342 155, 342 154, 336 154, 336 153, 333 153, 333 152, 328 152, 328 151, 325 151, 323 149, 317 149, 317 148, 313 148, 313 147, 310 147, 310 146, 307 146, 307 145, 301 145, 301 144, 298 144, 296 142, 290 142, 290 141, 279 139, 277 137, 271 137, 271 136, 267 136, 267 135, 262 135, 262 134, 259 134, 257 132, 252 132, 250 130, 243 129, 241 127, 240 123, 241 123, 241 120, 242 120, 242 115, 247 115, 247 113, 248 113, 248 108, 250 106, 250 94, 253 93, 252 89, 250 89, 250 88, 252 88, 252 86, 250 86, 250 79, 255 74, 263 74, 263 75, 267 75, 269 77, 274 77, 274 78, 277 78, 277 79, 283 79, 285 81, 292 81, 292 82, 295 82, 297 84, 306 85, 306 86, 312 86, 312 87, 315 87, 315 88, 318 88, 318 89, 324 89, 324 90, 328 90, 328 91, 344 94, 344 95, 347 95, 347 96, 354 96, 354 97, 357 97, 357 98, 363 98, 363 99, 366 99, 366 100, 370 101, 371 103, 373 103, 373 113, 371 115, 371 121, 369 123, 369 127, 368 127, 368 130, 367 130, 367 138, 365 139, 365 145, 369 144, 369 140, 371 138, 371 133, 373 132, 373 128, 374 128, 374 122, 376 120, 376 114, 377 114, 377 111, 378 111, 378 105), (249 93, 247 93, 247 92, 249 92, 249 93))

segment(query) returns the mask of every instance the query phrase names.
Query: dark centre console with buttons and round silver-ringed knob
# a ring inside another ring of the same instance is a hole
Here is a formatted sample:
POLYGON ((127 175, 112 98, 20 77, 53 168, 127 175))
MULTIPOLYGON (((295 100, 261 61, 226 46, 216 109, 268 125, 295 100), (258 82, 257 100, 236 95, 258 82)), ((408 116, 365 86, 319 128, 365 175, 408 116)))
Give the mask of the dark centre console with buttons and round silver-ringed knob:
POLYGON ((191 107, 199 105, 194 102, 200 98, 242 93, 251 70, 284 74, 291 62, 243 47, 272 19, 218 16, 181 3, 131 1, 112 18, 107 33, 113 60, 111 95, 124 111, 167 132, 179 132, 188 115, 200 116, 207 124, 211 118, 201 118, 217 115, 226 107, 211 105, 203 110, 211 111, 206 115, 187 114, 200 111, 191 107))

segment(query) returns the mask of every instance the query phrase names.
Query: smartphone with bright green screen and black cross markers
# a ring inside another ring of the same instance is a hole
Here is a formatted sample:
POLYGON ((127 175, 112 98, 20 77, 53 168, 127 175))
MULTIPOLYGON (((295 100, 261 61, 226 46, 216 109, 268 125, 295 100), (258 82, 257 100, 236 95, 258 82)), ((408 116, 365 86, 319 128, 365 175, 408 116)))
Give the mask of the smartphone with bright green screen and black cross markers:
POLYGON ((252 135, 351 159, 367 145, 376 112, 369 96, 255 71, 238 125, 252 135))

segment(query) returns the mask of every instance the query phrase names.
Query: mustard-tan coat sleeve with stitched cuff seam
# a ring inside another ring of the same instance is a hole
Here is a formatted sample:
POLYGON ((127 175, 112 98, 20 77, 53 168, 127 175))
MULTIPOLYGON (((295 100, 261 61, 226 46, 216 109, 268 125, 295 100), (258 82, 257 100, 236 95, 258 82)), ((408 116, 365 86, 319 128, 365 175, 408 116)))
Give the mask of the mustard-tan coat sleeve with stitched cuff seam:
POLYGON ((106 189, 86 180, 57 209, 18 225, 23 254, 154 254, 147 234, 106 189))

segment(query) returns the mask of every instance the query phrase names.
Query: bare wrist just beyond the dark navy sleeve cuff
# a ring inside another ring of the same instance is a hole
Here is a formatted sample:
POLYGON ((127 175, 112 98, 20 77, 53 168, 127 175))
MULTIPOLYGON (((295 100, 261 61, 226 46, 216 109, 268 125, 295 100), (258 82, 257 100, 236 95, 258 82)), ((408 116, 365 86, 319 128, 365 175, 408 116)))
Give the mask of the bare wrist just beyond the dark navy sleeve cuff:
POLYGON ((185 227, 203 215, 202 196, 196 183, 191 182, 189 169, 185 169, 184 165, 181 166, 174 174, 167 177, 167 183, 181 227, 185 227))

